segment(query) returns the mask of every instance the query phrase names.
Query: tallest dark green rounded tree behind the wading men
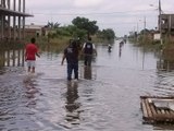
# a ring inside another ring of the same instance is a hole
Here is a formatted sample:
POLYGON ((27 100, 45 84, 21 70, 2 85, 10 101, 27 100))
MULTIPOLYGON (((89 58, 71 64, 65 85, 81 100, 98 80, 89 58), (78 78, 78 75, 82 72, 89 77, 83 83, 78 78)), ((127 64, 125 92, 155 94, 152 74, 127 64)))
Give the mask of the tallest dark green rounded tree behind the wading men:
POLYGON ((77 16, 72 21, 72 23, 79 29, 85 29, 87 32, 88 37, 97 33, 99 27, 96 25, 97 21, 89 21, 86 17, 77 16))

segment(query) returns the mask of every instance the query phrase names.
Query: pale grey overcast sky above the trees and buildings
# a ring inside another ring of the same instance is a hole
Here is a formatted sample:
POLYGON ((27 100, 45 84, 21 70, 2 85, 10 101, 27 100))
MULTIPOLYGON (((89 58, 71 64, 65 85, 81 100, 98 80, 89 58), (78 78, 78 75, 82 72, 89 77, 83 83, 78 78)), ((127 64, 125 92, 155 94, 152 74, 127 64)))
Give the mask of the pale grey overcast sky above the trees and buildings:
MULTIPOLYGON (((76 16, 97 21, 100 29, 112 28, 116 36, 128 35, 145 27, 152 29, 158 24, 159 0, 26 0, 26 24, 46 25, 58 22, 72 24, 76 16), (150 5, 151 4, 151 5, 150 5), (146 17, 146 21, 145 21, 146 17)), ((164 13, 174 13, 174 0, 161 0, 164 13)))

